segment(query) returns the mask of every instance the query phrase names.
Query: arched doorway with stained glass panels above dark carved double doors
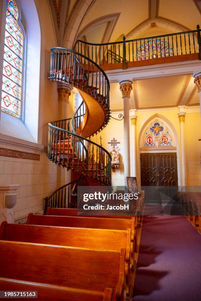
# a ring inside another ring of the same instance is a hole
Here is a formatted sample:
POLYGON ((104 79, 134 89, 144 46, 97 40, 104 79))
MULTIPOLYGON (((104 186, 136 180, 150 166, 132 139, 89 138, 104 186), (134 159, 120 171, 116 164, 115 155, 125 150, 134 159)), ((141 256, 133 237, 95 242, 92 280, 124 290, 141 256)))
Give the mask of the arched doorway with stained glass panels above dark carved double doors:
POLYGON ((177 148, 169 124, 160 117, 146 123, 140 139, 141 186, 177 186, 177 148))

